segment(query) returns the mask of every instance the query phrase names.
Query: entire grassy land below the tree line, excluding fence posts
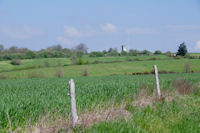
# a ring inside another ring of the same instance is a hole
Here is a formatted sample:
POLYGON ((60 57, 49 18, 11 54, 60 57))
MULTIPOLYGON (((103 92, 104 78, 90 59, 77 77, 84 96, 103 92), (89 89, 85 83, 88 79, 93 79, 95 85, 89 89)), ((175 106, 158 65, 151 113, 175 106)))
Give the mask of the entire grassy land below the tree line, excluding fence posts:
POLYGON ((0 80, 0 132, 200 132, 199 59, 159 55, 83 60, 99 62, 73 65, 69 58, 22 60, 19 66, 0 62, 6 75, 0 80), (186 63, 193 73, 183 73, 186 63), (155 64, 159 71, 176 72, 159 75, 161 99, 153 74, 132 75, 150 72, 155 64), (62 78, 54 75, 58 66, 62 78), (85 68, 88 76, 81 74, 85 68), (30 78, 31 73, 45 76, 30 78), (71 77, 80 119, 74 129, 68 96, 71 77))

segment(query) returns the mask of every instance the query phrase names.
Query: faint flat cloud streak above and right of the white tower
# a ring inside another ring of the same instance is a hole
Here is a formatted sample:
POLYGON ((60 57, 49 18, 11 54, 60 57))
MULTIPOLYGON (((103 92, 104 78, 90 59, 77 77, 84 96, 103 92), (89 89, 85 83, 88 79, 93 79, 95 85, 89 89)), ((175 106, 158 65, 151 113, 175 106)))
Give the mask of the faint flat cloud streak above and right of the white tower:
POLYGON ((126 29, 125 32, 129 35, 137 35, 137 34, 153 34, 156 31, 152 28, 130 28, 126 29))

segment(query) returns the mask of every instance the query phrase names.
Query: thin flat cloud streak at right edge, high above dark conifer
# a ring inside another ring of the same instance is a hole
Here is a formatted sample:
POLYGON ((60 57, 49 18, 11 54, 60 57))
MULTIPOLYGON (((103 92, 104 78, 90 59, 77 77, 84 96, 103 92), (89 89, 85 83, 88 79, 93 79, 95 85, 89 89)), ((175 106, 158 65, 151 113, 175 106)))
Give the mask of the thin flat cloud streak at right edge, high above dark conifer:
POLYGON ((200 30, 200 25, 169 25, 167 28, 172 31, 200 30))

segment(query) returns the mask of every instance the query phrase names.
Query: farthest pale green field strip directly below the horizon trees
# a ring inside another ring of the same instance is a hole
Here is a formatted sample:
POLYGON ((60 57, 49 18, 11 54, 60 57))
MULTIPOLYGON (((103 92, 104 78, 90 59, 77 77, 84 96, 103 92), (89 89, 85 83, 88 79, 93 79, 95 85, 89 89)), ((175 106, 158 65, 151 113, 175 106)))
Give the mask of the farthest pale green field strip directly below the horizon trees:
MULTIPOLYGON (((139 59, 139 60, 149 60, 152 58, 156 59, 171 59, 171 57, 165 55, 158 56, 119 56, 119 57, 88 57, 83 56, 83 61, 88 61, 89 63, 93 63, 95 61, 99 61, 102 63, 107 62, 121 62, 126 61, 127 59, 139 59)), ((17 71, 24 69, 37 69, 37 68, 46 68, 46 67, 55 67, 55 66, 68 66, 72 65, 70 58, 46 58, 46 59, 29 59, 22 60, 22 64, 20 66, 15 66, 10 64, 10 61, 0 61, 0 72, 6 71, 17 71)))

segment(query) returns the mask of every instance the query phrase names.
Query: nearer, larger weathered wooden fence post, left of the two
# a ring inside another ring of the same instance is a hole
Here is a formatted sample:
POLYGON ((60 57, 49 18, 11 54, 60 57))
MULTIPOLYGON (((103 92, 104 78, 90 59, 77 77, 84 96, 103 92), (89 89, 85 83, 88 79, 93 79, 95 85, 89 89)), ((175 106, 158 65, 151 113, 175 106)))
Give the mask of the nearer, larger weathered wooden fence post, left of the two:
POLYGON ((75 127, 78 122, 78 115, 76 112, 75 84, 73 79, 70 79, 69 87, 70 87, 70 98, 71 98, 72 121, 73 121, 73 127, 75 127))

